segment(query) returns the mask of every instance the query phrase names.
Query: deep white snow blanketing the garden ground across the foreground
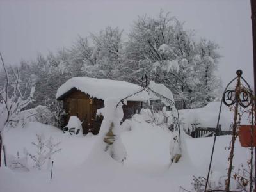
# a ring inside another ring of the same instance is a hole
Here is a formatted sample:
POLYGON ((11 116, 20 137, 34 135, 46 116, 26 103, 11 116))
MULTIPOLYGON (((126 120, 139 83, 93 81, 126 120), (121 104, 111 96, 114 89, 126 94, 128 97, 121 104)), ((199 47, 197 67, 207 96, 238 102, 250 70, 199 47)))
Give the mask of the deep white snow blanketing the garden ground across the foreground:
MULTIPOLYGON (((136 115, 122 125, 122 143, 127 150, 124 164, 113 160, 106 152, 95 151, 99 136, 75 136, 60 129, 40 123, 29 123, 23 128, 10 128, 4 132, 6 152, 15 156, 23 148, 35 154, 35 134, 52 136, 61 141, 61 151, 52 156, 51 170, 33 168, 24 172, 0 168, 0 191, 179 191, 179 186, 192 189, 193 175, 207 175, 213 138, 193 139, 182 131, 182 157, 179 163, 170 164, 172 132, 163 126, 147 123, 142 115, 136 115)), ((212 170, 216 175, 227 174, 227 158, 230 136, 218 136, 212 170)), ((236 142, 234 166, 246 163, 249 150, 236 142)), ((3 165, 3 163, 2 163, 3 165)))

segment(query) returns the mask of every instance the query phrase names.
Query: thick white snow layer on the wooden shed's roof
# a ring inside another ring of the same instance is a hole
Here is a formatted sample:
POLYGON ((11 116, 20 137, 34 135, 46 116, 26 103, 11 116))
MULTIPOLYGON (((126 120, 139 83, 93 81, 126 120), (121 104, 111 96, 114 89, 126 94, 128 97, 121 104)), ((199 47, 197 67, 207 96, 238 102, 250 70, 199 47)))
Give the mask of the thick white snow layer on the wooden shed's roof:
MULTIPOLYGON (((70 90, 76 88, 81 92, 84 92, 90 97, 95 97, 97 99, 124 99, 125 97, 143 90, 141 86, 136 84, 128 83, 125 81, 116 81, 110 79, 95 79, 89 77, 73 77, 68 79, 66 83, 62 84, 58 88, 56 93, 56 98, 60 99, 63 95, 67 94, 70 90)), ((127 98, 127 100, 134 101, 146 101, 148 100, 148 92, 143 90, 132 97, 127 98)))

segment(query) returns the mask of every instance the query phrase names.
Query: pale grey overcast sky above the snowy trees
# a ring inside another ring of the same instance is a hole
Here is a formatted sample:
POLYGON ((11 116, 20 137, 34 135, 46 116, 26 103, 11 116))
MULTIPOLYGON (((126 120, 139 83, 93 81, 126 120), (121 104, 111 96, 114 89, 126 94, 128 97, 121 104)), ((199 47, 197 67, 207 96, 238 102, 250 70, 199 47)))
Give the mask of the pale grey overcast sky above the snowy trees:
POLYGON ((0 0, 0 52, 6 63, 69 47, 107 25, 129 33, 138 15, 171 12, 196 38, 221 46, 219 72, 224 84, 241 68, 253 83, 252 23, 249 0, 187 1, 5 1, 0 0))

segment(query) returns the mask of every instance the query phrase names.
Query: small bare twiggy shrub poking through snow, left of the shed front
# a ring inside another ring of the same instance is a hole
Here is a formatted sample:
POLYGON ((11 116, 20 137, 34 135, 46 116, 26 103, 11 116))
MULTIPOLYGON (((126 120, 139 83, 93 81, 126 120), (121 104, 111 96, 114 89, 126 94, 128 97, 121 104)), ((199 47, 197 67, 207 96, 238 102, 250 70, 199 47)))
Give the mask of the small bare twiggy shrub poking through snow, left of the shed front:
POLYGON ((51 157, 56 152, 60 152, 60 148, 58 146, 61 142, 54 143, 52 137, 48 140, 45 140, 43 134, 36 134, 36 142, 32 142, 31 144, 36 147, 36 154, 31 154, 27 152, 26 154, 35 162, 35 168, 38 170, 42 169, 42 166, 48 160, 48 166, 51 164, 51 157))

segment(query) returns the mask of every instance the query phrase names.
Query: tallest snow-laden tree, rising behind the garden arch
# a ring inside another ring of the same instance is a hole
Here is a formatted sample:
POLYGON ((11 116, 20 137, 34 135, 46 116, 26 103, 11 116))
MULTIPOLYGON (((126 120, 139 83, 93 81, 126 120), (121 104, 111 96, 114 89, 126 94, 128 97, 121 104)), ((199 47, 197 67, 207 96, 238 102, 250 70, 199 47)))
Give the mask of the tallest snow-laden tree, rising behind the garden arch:
POLYGON ((157 18, 139 17, 129 34, 126 60, 121 68, 125 75, 120 77, 136 83, 138 77, 147 73, 157 83, 168 86, 176 99, 183 100, 184 108, 201 107, 216 97, 213 92, 219 85, 214 76, 220 58, 216 53, 218 45, 211 41, 203 44, 204 40, 196 43, 193 33, 184 30, 183 25, 169 13, 164 15, 163 11, 157 18), (131 76, 127 76, 125 71, 129 71, 131 76), (207 83, 206 97, 205 92, 198 92, 202 89, 203 77, 207 79, 207 82, 204 79, 207 83), (210 83, 209 79, 214 81, 210 83))

